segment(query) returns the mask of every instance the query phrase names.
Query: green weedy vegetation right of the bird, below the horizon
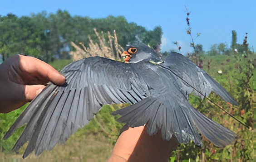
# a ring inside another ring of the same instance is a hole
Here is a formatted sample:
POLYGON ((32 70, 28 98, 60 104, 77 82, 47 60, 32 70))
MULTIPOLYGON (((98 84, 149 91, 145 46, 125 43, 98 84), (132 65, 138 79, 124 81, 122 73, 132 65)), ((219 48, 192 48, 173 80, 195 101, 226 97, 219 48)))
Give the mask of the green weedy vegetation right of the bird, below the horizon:
MULTIPOLYGON (((252 127, 251 102, 253 86, 250 71, 252 71, 253 67, 251 67, 251 59, 236 54, 233 56, 204 55, 202 60, 203 62, 211 62, 210 68, 208 69, 204 64, 203 70, 207 71, 210 76, 216 79, 227 91, 229 91, 238 101, 240 106, 232 106, 224 102, 214 93, 212 93, 209 98, 234 115, 237 119, 252 127), (218 73, 219 70, 222 70, 221 74, 218 73)), ((201 149, 193 143, 182 144, 176 152, 172 152, 172 158, 180 157, 181 160, 188 158, 195 160, 202 158, 202 153, 204 153, 207 161, 228 161, 231 158, 252 159, 252 132, 249 129, 246 129, 207 99, 201 100, 195 95, 190 95, 189 101, 195 108, 197 108, 197 110, 207 117, 234 131, 237 135, 237 139, 234 145, 228 145, 225 148, 217 148, 205 138, 203 139, 205 149, 201 149)))

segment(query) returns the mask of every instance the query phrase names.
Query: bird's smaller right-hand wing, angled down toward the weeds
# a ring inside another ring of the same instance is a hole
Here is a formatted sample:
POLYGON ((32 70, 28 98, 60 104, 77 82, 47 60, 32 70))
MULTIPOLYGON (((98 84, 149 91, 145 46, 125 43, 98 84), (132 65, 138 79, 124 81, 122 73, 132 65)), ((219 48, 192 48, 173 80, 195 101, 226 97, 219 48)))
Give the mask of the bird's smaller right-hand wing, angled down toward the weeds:
POLYGON ((161 65, 177 76, 177 79, 180 80, 180 89, 184 93, 190 94, 194 91, 196 95, 204 97, 214 91, 226 102, 238 105, 236 100, 217 81, 182 54, 172 52, 161 65))

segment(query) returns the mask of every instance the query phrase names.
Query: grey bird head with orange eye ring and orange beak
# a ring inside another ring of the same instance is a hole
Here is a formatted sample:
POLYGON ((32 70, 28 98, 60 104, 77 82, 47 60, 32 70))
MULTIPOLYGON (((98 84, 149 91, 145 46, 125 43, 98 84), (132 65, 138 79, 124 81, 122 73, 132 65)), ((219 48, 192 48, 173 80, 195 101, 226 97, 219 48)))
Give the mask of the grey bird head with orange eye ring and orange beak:
POLYGON ((160 59, 158 53, 145 44, 139 43, 136 45, 128 45, 126 51, 121 54, 125 63, 135 63, 140 61, 147 61, 150 59, 160 59))

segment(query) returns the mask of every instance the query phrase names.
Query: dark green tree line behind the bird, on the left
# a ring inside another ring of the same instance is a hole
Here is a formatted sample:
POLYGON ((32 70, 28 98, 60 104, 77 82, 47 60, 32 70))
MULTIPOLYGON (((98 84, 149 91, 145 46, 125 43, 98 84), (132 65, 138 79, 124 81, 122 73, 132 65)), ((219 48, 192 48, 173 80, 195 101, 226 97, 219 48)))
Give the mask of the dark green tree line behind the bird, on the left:
POLYGON ((161 44, 162 29, 153 30, 136 23, 128 23, 123 16, 91 19, 89 17, 71 16, 66 10, 55 14, 43 11, 30 16, 17 17, 15 14, 0 15, 0 54, 3 60, 17 53, 37 57, 45 62, 54 57, 67 58, 72 50, 70 42, 89 43, 88 35, 98 41, 94 28, 108 37, 117 32, 118 43, 125 48, 127 43, 141 41, 154 49, 161 44))

